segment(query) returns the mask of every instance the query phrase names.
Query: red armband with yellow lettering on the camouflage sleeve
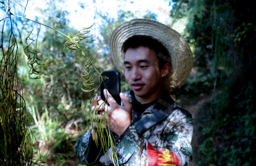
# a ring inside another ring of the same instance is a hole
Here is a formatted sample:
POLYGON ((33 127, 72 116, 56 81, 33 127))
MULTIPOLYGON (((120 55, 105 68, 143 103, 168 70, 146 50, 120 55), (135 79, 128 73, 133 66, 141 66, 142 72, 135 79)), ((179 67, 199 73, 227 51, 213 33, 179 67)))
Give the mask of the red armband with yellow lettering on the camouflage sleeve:
POLYGON ((148 166, 180 166, 176 154, 168 149, 155 150, 149 142, 147 142, 147 164, 148 166))

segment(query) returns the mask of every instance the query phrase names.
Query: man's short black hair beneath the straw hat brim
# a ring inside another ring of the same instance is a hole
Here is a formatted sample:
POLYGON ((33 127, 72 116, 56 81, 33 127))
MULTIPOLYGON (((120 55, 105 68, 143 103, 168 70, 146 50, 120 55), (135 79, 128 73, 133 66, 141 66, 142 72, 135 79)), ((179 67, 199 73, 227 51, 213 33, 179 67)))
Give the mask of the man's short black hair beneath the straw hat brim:
POLYGON ((149 36, 136 35, 136 36, 132 36, 132 37, 128 38, 122 46, 122 51, 125 53, 128 48, 130 48, 130 47, 137 48, 139 46, 147 46, 147 47, 153 49, 155 51, 156 55, 158 53, 162 53, 163 56, 167 57, 164 60, 164 59, 162 59, 163 57, 160 58, 159 56, 157 56, 157 58, 159 60, 160 69, 162 69, 164 67, 165 63, 169 63, 166 61, 168 58, 170 58, 170 55, 169 55, 167 49, 159 41, 157 41, 149 36))

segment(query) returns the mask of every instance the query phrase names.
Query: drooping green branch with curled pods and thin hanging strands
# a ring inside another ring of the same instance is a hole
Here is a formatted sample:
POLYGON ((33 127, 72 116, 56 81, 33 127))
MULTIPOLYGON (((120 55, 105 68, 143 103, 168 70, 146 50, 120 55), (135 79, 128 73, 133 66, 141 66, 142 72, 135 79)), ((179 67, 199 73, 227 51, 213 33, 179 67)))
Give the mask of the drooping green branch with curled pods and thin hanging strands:
MULTIPOLYGON (((6 13, 5 13, 4 19, 0 20, 0 22, 3 21, 3 28, 2 28, 2 34, 1 34, 1 46, 0 46, 0 49, 2 52, 1 61, 0 61, 0 70, 1 70, 0 71, 0 99, 1 99, 0 101, 0 108, 1 108, 0 151, 2 154, 4 154, 4 155, 1 155, 0 157, 0 164, 1 165, 34 165, 34 164, 40 165, 41 163, 46 163, 45 157, 49 155, 46 155, 43 157, 40 156, 39 160, 35 160, 32 158, 33 157, 33 151, 32 151, 33 137, 31 138, 30 135, 33 135, 33 133, 29 129, 28 117, 26 112, 26 103, 23 98, 22 83, 20 83, 19 76, 17 74, 18 46, 17 46, 15 35, 13 33, 11 17, 15 16, 15 17, 33 21, 39 24, 40 27, 41 25, 46 26, 48 28, 51 28, 51 27, 45 24, 41 24, 37 21, 25 18, 23 16, 18 16, 13 14, 10 11, 13 6, 10 7, 9 2, 10 2, 9 0, 7 0, 7 2, 6 1, 1 2, 2 3, 1 7, 6 9, 6 13), (10 31, 9 40, 8 40, 8 47, 6 47, 7 48, 6 50, 4 50, 3 43, 6 41, 4 41, 3 34, 4 34, 5 22, 7 19, 10 21, 11 31, 10 31)), ((24 13, 25 13, 25 10, 26 10, 26 7, 24 7, 24 13)), ((79 31, 73 38, 68 37, 67 35, 63 34, 62 32, 54 28, 51 28, 51 29, 69 38, 69 40, 67 40, 64 44, 65 49, 66 47, 71 50, 79 49, 82 52, 82 54, 86 57, 84 52, 81 50, 78 42, 92 36, 92 35, 84 36, 85 34, 90 32, 87 29, 91 28, 92 26, 81 28, 80 30, 81 32, 79 31)), ((37 32, 37 39, 40 32, 40 27, 37 32)), ((41 75, 41 71, 38 71, 37 65, 42 66, 45 64, 40 63, 42 59, 37 57, 39 54, 39 52, 37 51, 37 39, 33 40, 30 37, 32 31, 33 29, 28 33, 27 37, 25 38, 26 46, 24 47, 24 53, 28 58, 27 65, 30 68, 29 78, 39 79, 40 78, 39 76, 41 75), (32 41, 28 44, 28 40, 32 40, 32 41), (32 51, 30 48, 34 42, 35 42, 35 50, 32 51), (31 74, 35 74, 36 76, 30 76, 31 74)), ((84 63, 85 66, 83 68, 84 71, 82 74, 82 79, 84 81, 82 86, 84 86, 86 89, 81 87, 81 90, 84 92, 91 92, 95 90, 95 87, 92 87, 94 85, 94 81, 93 81, 92 75, 89 76, 91 74, 91 70, 89 68, 93 67, 94 70, 98 73, 98 75, 100 75, 100 73, 94 67, 93 61, 91 61, 87 57, 86 59, 87 61, 84 63)), ((101 83, 104 83, 103 79, 100 82, 100 84, 101 83)), ((100 85, 98 86, 97 91, 94 92, 90 100, 95 96, 99 96, 99 92, 100 92, 99 88, 100 88, 100 85)), ((107 101, 107 99, 108 97, 106 97, 105 102, 107 101)), ((105 102, 102 104, 103 107, 105 106, 105 102)), ((88 102, 86 105, 86 108, 89 106, 89 104, 91 103, 88 102)), ((91 123, 92 123, 93 115, 98 114, 98 110, 96 110, 95 108, 90 117, 91 123)), ((93 129, 94 136, 95 134, 99 134, 103 149, 109 149, 110 147, 112 148, 113 151, 111 154, 111 158, 114 164, 115 163, 118 164, 113 135, 111 131, 107 129, 106 120, 104 118, 105 116, 108 116, 108 109, 106 110, 106 112, 102 112, 101 115, 103 118, 96 120, 96 124, 99 130, 97 130, 98 133, 95 133, 93 129), (102 126, 104 127, 101 128, 102 126)), ((98 146, 99 144, 97 140, 95 140, 95 142, 96 142, 96 145, 98 146)))

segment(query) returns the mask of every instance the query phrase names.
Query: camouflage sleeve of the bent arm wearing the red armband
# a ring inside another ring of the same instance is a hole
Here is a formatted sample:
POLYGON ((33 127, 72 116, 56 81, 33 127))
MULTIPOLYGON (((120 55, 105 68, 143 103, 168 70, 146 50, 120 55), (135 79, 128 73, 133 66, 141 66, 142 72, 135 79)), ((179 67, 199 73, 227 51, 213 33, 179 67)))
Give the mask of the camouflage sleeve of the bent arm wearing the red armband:
MULTIPOLYGON (((116 139, 119 164, 147 166, 146 147, 148 141, 153 146, 157 144, 163 145, 162 147, 176 154, 180 166, 188 165, 193 154, 190 145, 193 125, 191 121, 187 120, 188 118, 186 119, 178 114, 179 112, 177 111, 173 112, 164 122, 147 130, 143 135, 131 123, 124 133, 116 139)), ((109 149, 110 154, 111 152, 112 150, 109 149)), ((109 156, 102 156, 100 162, 105 165, 113 165, 109 156)))

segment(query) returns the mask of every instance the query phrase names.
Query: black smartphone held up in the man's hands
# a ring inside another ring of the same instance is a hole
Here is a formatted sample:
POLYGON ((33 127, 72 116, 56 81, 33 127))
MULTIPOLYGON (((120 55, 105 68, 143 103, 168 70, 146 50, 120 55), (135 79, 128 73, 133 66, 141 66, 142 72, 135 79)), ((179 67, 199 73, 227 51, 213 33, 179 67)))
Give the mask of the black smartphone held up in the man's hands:
MULTIPOLYGON (((121 98, 119 96, 121 85, 120 85, 120 73, 117 70, 106 70, 101 73, 101 76, 103 78, 103 81, 106 85, 106 89, 109 91, 109 93, 112 95, 112 97, 115 99, 115 101, 121 105, 121 98)), ((100 81, 102 79, 100 78, 100 81)), ((104 101, 106 98, 104 96, 103 90, 105 89, 104 83, 102 82, 100 85, 100 94, 101 99, 104 101)))

